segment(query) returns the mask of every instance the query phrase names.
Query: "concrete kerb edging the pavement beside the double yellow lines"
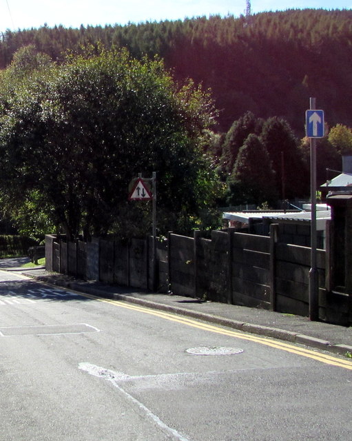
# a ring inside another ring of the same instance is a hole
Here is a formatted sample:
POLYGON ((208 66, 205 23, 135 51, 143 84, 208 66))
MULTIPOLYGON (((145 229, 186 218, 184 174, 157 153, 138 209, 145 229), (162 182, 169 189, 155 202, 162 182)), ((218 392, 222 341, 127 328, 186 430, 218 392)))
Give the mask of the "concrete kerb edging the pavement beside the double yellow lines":
POLYGON ((352 353, 352 346, 349 345, 338 345, 333 344, 327 340, 322 340, 320 338, 315 338, 312 336, 307 336, 304 334, 300 334, 299 332, 288 331, 286 329, 279 329, 275 327, 267 327, 263 325, 256 325, 254 323, 246 323, 238 320, 231 320, 229 318, 223 318, 220 316, 214 316, 211 314, 205 314, 199 311, 192 311, 187 308, 174 307, 171 305, 165 305, 163 303, 158 303, 150 300, 145 300, 143 298, 137 298, 134 296, 126 295, 126 294, 118 294, 118 293, 109 293, 104 290, 100 290, 94 287, 89 287, 87 285, 81 287, 78 283, 72 283, 70 280, 55 280, 56 283, 53 283, 50 280, 41 280, 41 278, 33 277, 31 274, 26 274, 32 278, 36 278, 37 280, 46 283, 47 285, 53 286, 61 286, 66 287, 68 289, 72 289, 77 292, 81 292, 82 294, 90 294, 92 296, 97 296, 101 298, 111 298, 114 300, 123 300, 125 302, 134 303, 135 305, 140 305, 143 307, 148 307, 151 309, 158 309, 161 311, 170 312, 173 314, 178 314, 182 316, 187 316, 191 318, 196 318, 198 320, 203 320, 205 322, 211 322, 216 325, 221 325, 225 327, 229 327, 231 329, 236 329, 238 331, 245 331, 251 334, 258 334, 260 336, 276 338, 278 340, 298 343, 300 345, 306 345, 309 347, 313 347, 315 349, 321 349, 323 351, 329 351, 332 353, 336 353, 339 355, 345 355, 346 353, 352 353))

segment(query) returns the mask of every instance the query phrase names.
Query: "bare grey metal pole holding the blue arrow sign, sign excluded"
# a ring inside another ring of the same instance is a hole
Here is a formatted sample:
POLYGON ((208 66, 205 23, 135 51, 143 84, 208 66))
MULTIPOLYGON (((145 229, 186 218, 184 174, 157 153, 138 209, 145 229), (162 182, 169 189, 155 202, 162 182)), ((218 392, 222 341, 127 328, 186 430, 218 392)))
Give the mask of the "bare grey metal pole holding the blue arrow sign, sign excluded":
MULTIPOLYGON (((310 99, 310 109, 315 110, 315 98, 310 99)), ((319 287, 317 269, 317 219, 316 219, 316 139, 311 137, 311 269, 309 270, 309 318, 319 319, 319 287)))

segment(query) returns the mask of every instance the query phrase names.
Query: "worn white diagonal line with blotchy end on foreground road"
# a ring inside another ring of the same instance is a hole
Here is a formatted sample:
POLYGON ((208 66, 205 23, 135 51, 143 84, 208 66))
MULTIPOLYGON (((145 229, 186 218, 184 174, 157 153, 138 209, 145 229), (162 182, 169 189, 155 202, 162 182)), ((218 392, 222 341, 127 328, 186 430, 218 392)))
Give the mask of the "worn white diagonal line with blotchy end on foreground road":
MULTIPOLYGON (((130 393, 126 392, 121 386, 117 384, 118 378, 121 376, 125 376, 124 373, 121 372, 114 372, 110 371, 109 369, 104 369, 103 367, 99 367, 96 365, 92 365, 90 363, 79 363, 79 369, 81 371, 85 371, 87 373, 90 373, 90 375, 97 376, 100 378, 103 378, 104 380, 110 381, 118 391, 123 393, 123 395, 130 401, 132 401, 134 404, 136 404, 139 409, 145 412, 145 414, 153 420, 158 427, 160 427, 163 431, 165 431, 168 435, 173 435, 176 440, 179 441, 189 441, 187 438, 185 438, 183 435, 178 433, 175 429, 172 429, 172 427, 167 426, 165 422, 163 422, 158 416, 155 415, 152 411, 150 411, 143 403, 138 401, 136 398, 134 398, 130 393)), ((128 376, 127 376, 128 377, 128 376)))

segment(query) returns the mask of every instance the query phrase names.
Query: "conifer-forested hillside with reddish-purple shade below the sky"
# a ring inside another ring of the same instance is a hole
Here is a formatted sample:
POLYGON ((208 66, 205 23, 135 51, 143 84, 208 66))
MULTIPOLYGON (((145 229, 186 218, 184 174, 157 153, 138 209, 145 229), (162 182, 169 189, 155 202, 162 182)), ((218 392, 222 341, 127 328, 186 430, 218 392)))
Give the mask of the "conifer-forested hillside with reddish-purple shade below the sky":
POLYGON ((30 43, 61 61, 66 50, 98 42, 126 47, 134 57, 158 54, 176 79, 191 77, 211 88, 221 132, 251 110, 262 118, 284 117, 302 136, 309 96, 316 97, 330 126, 352 126, 352 10, 8 30, 1 35, 0 68, 30 43))

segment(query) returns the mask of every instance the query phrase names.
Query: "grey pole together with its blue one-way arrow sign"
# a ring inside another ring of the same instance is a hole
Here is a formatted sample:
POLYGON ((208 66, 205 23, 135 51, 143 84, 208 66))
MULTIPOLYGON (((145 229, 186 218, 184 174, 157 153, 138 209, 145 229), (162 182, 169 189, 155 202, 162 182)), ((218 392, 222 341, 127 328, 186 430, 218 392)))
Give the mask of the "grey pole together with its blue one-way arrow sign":
POLYGON ((316 215, 316 139, 324 136, 324 112, 315 110, 315 98, 306 111, 306 135, 311 141, 311 269, 309 270, 309 318, 319 320, 316 215))

